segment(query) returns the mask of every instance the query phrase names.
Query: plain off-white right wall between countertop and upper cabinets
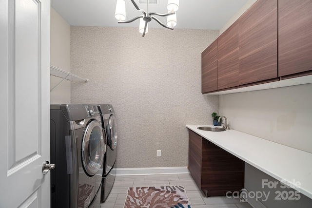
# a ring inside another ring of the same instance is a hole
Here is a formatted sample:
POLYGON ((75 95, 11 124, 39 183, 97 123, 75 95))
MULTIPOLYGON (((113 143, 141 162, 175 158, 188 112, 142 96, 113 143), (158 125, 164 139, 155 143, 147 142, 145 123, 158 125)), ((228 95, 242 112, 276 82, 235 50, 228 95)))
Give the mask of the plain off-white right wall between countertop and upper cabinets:
POLYGON ((219 96, 232 129, 312 153, 312 84, 219 96))

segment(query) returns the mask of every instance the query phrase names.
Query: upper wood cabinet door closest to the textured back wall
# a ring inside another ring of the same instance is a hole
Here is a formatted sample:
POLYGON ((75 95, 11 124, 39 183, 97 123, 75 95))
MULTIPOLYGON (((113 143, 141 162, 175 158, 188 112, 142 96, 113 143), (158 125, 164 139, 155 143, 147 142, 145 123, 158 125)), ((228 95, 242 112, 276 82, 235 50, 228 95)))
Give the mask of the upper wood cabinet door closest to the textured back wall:
POLYGON ((218 39, 201 53, 201 93, 218 89, 218 39))

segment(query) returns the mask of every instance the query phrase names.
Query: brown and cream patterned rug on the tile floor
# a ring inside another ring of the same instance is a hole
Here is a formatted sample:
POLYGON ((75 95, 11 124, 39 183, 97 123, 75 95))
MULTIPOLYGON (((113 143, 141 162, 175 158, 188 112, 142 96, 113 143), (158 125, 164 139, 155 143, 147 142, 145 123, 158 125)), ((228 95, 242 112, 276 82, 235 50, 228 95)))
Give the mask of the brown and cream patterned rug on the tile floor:
POLYGON ((191 208, 183 186, 128 188, 123 208, 191 208))

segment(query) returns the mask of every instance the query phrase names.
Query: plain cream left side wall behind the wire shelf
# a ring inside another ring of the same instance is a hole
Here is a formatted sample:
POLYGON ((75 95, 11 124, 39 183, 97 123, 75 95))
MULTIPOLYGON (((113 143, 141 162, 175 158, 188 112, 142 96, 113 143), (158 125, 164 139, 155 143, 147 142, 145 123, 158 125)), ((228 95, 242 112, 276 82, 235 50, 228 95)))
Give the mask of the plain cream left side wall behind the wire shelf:
MULTIPOLYGON (((70 25, 51 7, 51 65, 70 72, 70 25)), ((51 77, 51 89, 62 78, 51 77)), ((70 103, 70 81, 62 81, 50 93, 51 104, 70 103)))

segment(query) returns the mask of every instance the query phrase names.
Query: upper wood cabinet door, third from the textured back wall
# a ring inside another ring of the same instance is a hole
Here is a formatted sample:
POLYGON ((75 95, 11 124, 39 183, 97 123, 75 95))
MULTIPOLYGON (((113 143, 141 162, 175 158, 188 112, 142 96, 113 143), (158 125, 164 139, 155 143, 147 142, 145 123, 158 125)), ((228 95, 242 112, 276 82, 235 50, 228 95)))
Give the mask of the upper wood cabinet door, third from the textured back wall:
POLYGON ((239 18, 239 83, 276 77, 277 0, 257 0, 239 18))

